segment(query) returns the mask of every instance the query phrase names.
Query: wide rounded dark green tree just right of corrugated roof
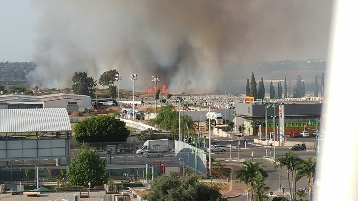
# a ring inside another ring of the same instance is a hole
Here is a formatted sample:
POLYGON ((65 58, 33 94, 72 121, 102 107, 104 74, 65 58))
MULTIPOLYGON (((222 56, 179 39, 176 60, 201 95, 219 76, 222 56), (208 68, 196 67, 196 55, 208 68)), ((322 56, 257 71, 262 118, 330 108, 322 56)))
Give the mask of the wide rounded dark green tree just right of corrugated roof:
POLYGON ((114 116, 101 115, 77 122, 74 139, 77 142, 125 142, 130 131, 114 116))

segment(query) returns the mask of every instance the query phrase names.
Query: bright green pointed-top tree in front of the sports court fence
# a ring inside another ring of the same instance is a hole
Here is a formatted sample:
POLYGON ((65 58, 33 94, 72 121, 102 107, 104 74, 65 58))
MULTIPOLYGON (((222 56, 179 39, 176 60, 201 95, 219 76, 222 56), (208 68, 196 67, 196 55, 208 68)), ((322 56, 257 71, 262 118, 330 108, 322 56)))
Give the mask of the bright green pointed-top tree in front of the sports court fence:
POLYGON ((81 151, 72 158, 67 167, 67 178, 71 186, 102 186, 108 181, 105 172, 106 162, 87 143, 82 143, 81 151))

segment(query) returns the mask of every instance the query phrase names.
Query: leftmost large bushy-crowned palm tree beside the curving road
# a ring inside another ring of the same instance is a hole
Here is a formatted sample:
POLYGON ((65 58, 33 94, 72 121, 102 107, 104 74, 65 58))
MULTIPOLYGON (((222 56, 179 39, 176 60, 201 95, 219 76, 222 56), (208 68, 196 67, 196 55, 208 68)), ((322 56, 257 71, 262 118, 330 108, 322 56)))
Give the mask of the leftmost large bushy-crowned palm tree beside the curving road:
MULTIPOLYGON (((255 177, 261 175, 262 178, 267 178, 267 172, 263 170, 266 165, 262 162, 244 161, 243 168, 235 172, 236 178, 239 182, 245 182, 247 193, 251 191, 250 200, 253 199, 253 187, 255 185, 255 177), (249 189, 250 188, 250 189, 249 189)), ((248 194, 247 194, 248 200, 248 194)))

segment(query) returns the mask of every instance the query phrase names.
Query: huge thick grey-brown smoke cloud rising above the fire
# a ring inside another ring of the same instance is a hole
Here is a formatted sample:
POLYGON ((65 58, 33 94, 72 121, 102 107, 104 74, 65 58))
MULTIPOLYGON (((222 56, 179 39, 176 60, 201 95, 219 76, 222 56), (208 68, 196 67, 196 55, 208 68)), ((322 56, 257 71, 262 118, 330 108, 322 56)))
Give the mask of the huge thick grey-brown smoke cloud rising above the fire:
MULTIPOLYGON (((70 87, 76 71, 122 74, 120 88, 213 92, 228 61, 326 58, 328 0, 34 1, 43 14, 29 74, 42 87, 70 87)), ((252 69, 255 71, 255 69, 252 69)))

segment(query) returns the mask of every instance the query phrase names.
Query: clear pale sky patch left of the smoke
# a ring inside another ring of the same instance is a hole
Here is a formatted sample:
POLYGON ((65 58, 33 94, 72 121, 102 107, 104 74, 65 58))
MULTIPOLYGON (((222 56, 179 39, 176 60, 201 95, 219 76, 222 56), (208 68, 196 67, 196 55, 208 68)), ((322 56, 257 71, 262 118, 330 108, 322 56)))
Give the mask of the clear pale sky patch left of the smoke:
POLYGON ((0 60, 27 62, 34 52, 35 31, 39 14, 31 0, 0 0, 0 60))

